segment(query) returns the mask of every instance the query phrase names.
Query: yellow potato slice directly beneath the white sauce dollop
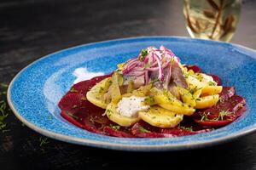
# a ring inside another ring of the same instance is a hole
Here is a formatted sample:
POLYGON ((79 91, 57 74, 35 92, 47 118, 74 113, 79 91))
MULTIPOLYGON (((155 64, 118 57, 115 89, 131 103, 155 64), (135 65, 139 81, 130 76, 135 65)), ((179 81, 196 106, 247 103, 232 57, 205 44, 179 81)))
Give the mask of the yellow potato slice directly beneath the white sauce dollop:
POLYGON ((107 109, 105 113, 108 116, 108 119, 110 119, 113 122, 116 122, 122 127, 131 127, 134 123, 138 122, 140 118, 137 117, 128 117, 128 116, 122 116, 117 112, 118 105, 115 103, 110 103, 107 106, 107 109))

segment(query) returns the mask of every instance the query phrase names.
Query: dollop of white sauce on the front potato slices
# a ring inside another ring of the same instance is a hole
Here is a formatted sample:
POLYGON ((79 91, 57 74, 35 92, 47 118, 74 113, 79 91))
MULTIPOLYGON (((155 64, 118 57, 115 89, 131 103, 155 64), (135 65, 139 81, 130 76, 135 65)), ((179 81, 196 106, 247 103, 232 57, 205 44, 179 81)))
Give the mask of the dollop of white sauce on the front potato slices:
POLYGON ((136 96, 122 98, 119 101, 117 111, 122 116, 137 116, 138 111, 145 111, 149 109, 149 105, 143 105, 144 100, 144 97, 136 96))

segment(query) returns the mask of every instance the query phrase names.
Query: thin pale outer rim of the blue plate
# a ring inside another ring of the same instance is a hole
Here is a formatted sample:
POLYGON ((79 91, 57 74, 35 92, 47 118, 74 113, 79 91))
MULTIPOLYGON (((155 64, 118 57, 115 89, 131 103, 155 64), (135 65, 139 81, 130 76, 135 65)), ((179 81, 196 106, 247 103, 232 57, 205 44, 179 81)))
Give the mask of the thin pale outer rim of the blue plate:
MULTIPOLYGON (((7 91, 7 101, 8 101, 10 109, 14 112, 15 116, 20 120, 20 122, 23 122, 27 127, 30 127, 32 130, 34 130, 38 133, 41 133, 44 136, 47 136, 51 139, 58 139, 58 140, 61 140, 63 142, 67 142, 67 143, 94 146, 94 147, 98 147, 98 148, 105 148, 105 149, 111 149, 111 150, 130 150, 130 151, 188 150, 188 149, 195 149, 195 148, 202 148, 202 147, 206 147, 206 146, 212 146, 212 145, 215 145, 215 144, 223 144, 223 143, 228 142, 230 140, 237 139, 241 136, 244 136, 244 135, 247 135, 247 134, 250 134, 250 133, 253 133, 253 132, 256 131, 256 125, 254 125, 254 126, 251 126, 247 129, 242 130, 241 132, 234 133, 230 136, 219 137, 217 139, 211 139, 209 141, 196 141, 196 142, 192 142, 192 143, 189 143, 189 144, 186 144, 186 143, 184 143, 184 144, 160 144, 160 145, 157 145, 157 144, 155 144, 155 145, 131 144, 131 143, 129 143, 129 144, 116 144, 116 143, 111 143, 111 142, 108 142, 108 141, 98 141, 98 140, 93 140, 93 139, 84 139, 84 138, 68 136, 68 135, 61 134, 61 133, 51 132, 49 130, 44 129, 43 127, 38 127, 36 124, 34 124, 32 122, 29 122, 28 120, 26 120, 26 118, 21 116, 19 111, 17 111, 15 109, 15 105, 13 104, 13 102, 11 100, 11 88, 13 86, 13 83, 20 76, 20 74, 22 72, 26 71, 27 68, 29 68, 31 65, 34 65, 35 63, 37 63, 41 59, 46 59, 46 58, 49 58, 53 54, 62 53, 66 50, 71 50, 73 48, 83 47, 85 45, 89 46, 89 45, 95 45, 97 43, 105 43, 105 42, 108 43, 108 42, 117 42, 117 41, 122 41, 122 40, 147 39, 147 38, 179 38, 179 39, 195 40, 195 41, 201 41, 201 42, 222 43, 222 44, 226 44, 226 45, 235 46, 235 47, 238 47, 238 48, 243 48, 243 49, 246 49, 246 50, 251 51, 251 52, 256 54, 255 49, 247 48, 243 45, 236 44, 236 43, 204 40, 204 39, 191 38, 191 37, 177 37, 177 36, 125 37, 125 38, 117 38, 117 39, 111 39, 111 40, 106 40, 106 41, 101 41, 101 42, 84 43, 84 44, 80 44, 80 45, 77 45, 77 46, 74 46, 74 47, 71 47, 71 48, 64 48, 64 49, 61 49, 61 50, 56 51, 56 52, 51 53, 51 54, 47 54, 47 55, 45 55, 45 56, 43 56, 39 59, 36 59, 36 60, 32 61, 32 63, 30 63, 29 65, 26 65, 26 67, 21 69, 15 75, 15 77, 12 79, 12 81, 9 83, 9 88, 8 88, 8 91, 7 91)), ((110 137, 110 138, 116 138, 116 137, 110 137)))

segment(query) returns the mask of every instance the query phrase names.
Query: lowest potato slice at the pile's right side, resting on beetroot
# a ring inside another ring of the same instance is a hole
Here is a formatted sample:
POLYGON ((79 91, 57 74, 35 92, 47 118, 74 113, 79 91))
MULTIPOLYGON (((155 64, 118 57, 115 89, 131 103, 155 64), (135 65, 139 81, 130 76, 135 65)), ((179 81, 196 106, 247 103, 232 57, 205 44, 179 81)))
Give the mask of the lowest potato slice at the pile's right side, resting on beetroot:
POLYGON ((218 94, 214 94, 214 95, 208 95, 208 96, 204 96, 201 98, 196 99, 196 104, 195 104, 195 108, 196 109, 205 109, 208 107, 212 107, 212 105, 217 104, 219 99, 219 95, 218 94))

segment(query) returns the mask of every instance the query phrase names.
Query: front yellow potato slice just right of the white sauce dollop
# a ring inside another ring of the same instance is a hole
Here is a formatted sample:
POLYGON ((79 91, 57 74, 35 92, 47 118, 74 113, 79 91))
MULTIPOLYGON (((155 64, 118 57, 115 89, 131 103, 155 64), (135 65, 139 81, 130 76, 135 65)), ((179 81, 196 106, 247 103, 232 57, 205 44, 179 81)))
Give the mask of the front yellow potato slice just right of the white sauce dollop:
POLYGON ((167 111, 160 106, 153 106, 148 111, 139 111, 139 117, 154 127, 176 127, 182 122, 183 115, 167 111))

